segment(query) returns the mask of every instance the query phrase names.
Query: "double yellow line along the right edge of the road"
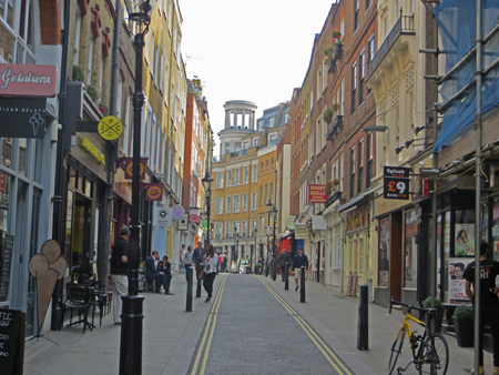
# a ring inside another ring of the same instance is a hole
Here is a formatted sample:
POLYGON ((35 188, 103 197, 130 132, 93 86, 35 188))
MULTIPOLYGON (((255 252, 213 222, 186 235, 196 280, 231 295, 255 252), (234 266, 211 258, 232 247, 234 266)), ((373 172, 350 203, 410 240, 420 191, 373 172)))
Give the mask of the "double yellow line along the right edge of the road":
POLYGON ((339 375, 352 375, 352 372, 346 367, 346 365, 339 359, 339 357, 333 352, 333 349, 327 345, 323 338, 315 332, 313 327, 302 317, 299 314, 276 292, 268 285, 268 283, 258 277, 258 280, 264 284, 264 286, 274 295, 274 297, 283 305, 283 307, 292 315, 295 321, 299 324, 302 330, 310 337, 312 342, 317 346, 317 348, 324 354, 327 362, 336 369, 339 375))

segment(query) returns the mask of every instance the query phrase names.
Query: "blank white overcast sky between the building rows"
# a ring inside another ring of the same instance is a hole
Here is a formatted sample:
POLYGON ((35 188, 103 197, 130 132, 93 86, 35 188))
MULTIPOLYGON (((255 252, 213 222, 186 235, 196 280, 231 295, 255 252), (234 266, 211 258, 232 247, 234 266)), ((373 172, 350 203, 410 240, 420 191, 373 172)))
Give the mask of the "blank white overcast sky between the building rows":
POLYGON ((224 103, 248 100, 263 110, 289 101, 336 0, 180 0, 187 78, 202 81, 215 133, 224 103))

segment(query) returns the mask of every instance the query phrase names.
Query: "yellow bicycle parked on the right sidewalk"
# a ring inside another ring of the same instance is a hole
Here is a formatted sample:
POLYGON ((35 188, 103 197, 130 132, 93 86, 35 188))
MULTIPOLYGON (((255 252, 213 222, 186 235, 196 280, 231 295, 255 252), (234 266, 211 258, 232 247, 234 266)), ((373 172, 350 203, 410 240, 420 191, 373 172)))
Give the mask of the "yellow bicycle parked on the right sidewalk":
POLYGON ((388 374, 394 374, 397 366, 397 359, 403 351, 404 338, 407 334, 413 358, 406 367, 398 367, 397 374, 406 372, 407 368, 414 364, 419 374, 445 375, 447 373, 447 366, 449 365, 449 346, 447 345, 447 341, 441 334, 431 333, 428 325, 410 315, 411 310, 424 311, 429 316, 428 322, 431 322, 431 318, 437 313, 437 308, 420 308, 391 298, 389 306, 390 314, 393 306, 405 307, 407 312, 404 323, 395 337, 394 344, 391 345, 390 359, 388 362, 388 374), (417 335, 416 331, 410 330, 409 321, 413 321, 425 328, 422 335, 417 335))

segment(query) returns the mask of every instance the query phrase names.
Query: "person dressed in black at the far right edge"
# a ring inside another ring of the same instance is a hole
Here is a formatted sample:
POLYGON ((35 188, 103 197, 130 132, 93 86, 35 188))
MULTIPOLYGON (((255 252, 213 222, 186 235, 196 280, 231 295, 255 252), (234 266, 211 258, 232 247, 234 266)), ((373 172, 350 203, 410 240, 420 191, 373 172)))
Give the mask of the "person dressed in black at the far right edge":
MULTIPOLYGON (((465 270, 466 295, 475 304, 475 261, 469 263, 465 270)), ((478 374, 483 371, 483 325, 490 322, 493 346, 493 375, 499 375, 499 287, 496 287, 496 278, 499 275, 499 262, 490 259, 490 245, 487 242, 480 244, 480 316, 479 316, 479 341, 478 341, 478 374)), ((471 369, 475 374, 475 369, 471 369)))

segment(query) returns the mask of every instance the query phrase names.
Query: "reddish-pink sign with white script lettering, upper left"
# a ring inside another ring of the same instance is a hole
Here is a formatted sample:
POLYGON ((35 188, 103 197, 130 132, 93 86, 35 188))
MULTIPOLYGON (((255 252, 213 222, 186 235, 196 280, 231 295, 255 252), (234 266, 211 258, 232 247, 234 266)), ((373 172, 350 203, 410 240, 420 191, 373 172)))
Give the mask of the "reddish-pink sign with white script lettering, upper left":
POLYGON ((57 75, 54 65, 0 64, 0 95, 53 98, 57 75))

